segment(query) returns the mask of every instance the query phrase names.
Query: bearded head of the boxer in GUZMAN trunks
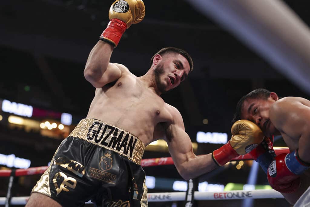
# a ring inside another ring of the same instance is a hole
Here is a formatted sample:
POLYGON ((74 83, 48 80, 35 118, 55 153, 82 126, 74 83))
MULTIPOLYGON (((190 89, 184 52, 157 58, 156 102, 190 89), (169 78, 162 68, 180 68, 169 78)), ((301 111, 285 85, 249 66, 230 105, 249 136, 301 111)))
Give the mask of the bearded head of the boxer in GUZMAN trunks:
POLYGON ((184 50, 166 47, 151 59, 157 89, 163 93, 177 87, 193 70, 193 60, 184 50))

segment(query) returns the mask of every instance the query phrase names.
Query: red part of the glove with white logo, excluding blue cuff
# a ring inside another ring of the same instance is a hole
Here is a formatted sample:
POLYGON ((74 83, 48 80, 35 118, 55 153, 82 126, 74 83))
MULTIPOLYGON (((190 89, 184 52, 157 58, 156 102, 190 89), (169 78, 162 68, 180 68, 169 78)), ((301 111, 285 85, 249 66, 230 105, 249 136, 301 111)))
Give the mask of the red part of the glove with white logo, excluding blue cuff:
POLYGON ((270 186, 281 193, 296 191, 301 183, 300 175, 294 174, 286 165, 286 156, 281 154, 275 157, 268 167, 267 178, 270 186))

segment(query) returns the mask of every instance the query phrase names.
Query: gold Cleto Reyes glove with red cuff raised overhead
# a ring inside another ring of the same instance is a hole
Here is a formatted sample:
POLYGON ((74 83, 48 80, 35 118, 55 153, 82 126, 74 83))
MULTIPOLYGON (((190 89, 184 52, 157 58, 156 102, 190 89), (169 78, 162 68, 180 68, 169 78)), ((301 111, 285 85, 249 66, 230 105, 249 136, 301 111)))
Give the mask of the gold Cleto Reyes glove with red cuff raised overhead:
POLYGON ((110 22, 100 39, 116 47, 125 30, 131 24, 142 21, 144 15, 145 7, 142 0, 116 0, 110 7, 110 22))

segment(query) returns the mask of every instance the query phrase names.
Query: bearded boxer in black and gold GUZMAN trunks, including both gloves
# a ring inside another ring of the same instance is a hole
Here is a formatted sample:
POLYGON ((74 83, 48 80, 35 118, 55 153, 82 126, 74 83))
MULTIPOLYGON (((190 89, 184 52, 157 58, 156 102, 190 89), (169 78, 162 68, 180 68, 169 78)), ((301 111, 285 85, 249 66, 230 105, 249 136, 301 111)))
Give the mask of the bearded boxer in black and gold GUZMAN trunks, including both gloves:
POLYGON ((87 117, 61 143, 27 206, 82 206, 90 199, 102 206, 147 206, 140 162, 149 143, 164 138, 178 172, 190 179, 246 154, 262 141, 261 130, 241 120, 232 126, 233 136, 226 145, 208 155, 193 153, 182 116, 160 97, 193 70, 188 53, 163 48, 141 77, 124 65, 109 63, 122 33, 143 17, 141 0, 113 3, 111 21, 84 70, 85 78, 96 88, 87 117))

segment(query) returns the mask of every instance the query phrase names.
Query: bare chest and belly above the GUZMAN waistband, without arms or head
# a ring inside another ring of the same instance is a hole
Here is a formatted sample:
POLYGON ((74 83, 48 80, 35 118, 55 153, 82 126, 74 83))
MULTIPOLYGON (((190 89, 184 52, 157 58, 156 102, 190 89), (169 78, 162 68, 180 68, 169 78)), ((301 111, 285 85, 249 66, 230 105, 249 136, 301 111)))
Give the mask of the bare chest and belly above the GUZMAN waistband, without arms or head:
POLYGON ((165 138, 163 132, 173 121, 174 107, 148 87, 143 77, 135 76, 121 64, 115 65, 122 76, 96 89, 86 118, 120 127, 139 137, 145 145, 165 138))

